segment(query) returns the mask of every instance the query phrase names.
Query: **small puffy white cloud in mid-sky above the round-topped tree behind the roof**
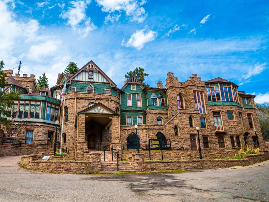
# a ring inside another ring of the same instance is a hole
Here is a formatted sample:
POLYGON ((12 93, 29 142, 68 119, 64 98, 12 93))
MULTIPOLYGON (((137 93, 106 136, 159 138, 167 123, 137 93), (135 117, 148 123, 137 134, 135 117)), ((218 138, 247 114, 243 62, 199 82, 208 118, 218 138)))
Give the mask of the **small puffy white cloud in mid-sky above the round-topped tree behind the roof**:
POLYGON ((124 40, 122 41, 122 45, 126 47, 134 47, 137 48, 137 50, 141 50, 144 47, 144 44, 153 41, 155 37, 157 37, 157 33, 148 30, 146 33, 145 29, 136 30, 128 40, 128 42, 124 45, 124 40))

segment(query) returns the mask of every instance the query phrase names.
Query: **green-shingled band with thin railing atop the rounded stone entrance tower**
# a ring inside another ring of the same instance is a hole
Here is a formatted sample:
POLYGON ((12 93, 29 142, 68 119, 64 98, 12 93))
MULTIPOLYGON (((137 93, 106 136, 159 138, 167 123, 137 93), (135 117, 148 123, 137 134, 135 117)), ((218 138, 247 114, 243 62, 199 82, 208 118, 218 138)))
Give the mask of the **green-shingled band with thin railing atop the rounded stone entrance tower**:
POLYGON ((99 94, 107 94, 107 95, 114 95, 119 97, 119 91, 108 89, 108 88, 94 88, 90 89, 87 87, 81 87, 81 86, 68 86, 66 88, 66 93, 71 92, 81 92, 81 93, 99 93, 99 94))

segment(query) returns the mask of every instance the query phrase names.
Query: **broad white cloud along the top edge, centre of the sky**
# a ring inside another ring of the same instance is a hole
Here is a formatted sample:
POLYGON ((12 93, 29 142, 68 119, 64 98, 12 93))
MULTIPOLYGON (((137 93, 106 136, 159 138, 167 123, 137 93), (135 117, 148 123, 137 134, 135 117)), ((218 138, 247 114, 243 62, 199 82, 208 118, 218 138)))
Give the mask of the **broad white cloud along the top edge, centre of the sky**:
POLYGON ((131 21, 142 23, 147 17, 147 13, 142 7, 146 1, 142 0, 95 0, 102 6, 103 12, 113 13, 115 11, 125 12, 131 21))

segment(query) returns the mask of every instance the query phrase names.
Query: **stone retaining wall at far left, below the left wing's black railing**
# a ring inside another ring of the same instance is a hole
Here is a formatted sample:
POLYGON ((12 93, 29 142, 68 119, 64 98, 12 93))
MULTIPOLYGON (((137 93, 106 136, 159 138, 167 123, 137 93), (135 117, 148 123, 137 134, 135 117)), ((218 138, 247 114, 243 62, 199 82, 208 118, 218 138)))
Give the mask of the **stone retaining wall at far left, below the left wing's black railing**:
POLYGON ((53 147, 13 147, 8 145, 0 145, 0 156, 17 156, 17 155, 28 155, 38 154, 39 152, 52 153, 54 152, 53 147))

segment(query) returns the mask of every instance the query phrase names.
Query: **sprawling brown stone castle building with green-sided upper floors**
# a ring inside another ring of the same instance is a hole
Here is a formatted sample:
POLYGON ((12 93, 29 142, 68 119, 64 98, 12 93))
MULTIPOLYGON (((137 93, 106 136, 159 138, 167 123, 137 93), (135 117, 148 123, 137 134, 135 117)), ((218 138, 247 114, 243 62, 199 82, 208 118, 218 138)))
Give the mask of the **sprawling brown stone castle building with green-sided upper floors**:
POLYGON ((12 70, 5 72, 8 83, 2 90, 22 92, 13 109, 7 109, 17 112, 16 121, 29 123, 22 143, 45 142, 52 147, 58 120, 57 139, 63 129, 63 148, 68 149, 71 159, 83 160, 86 152, 110 149, 111 145, 120 154, 136 148, 135 124, 140 146, 145 148, 148 139, 157 136, 164 145, 171 143, 173 149, 197 150, 197 126, 203 150, 221 152, 247 144, 256 146, 254 128, 264 148, 255 96, 238 91, 238 85, 222 78, 202 81, 193 74, 179 82, 174 73, 168 72, 165 86, 159 81, 157 88, 145 87, 132 76, 119 89, 90 61, 73 75, 59 74, 51 89, 37 90, 34 75, 21 77, 12 76, 12 70), (64 82, 63 109, 59 105, 64 82))

